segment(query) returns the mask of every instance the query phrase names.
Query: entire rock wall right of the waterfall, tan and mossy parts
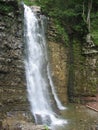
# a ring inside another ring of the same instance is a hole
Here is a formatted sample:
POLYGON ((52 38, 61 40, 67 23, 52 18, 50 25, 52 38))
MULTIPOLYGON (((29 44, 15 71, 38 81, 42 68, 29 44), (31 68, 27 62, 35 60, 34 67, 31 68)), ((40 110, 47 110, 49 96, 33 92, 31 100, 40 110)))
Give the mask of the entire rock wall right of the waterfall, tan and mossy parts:
POLYGON ((59 97, 63 102, 67 102, 67 94, 70 102, 84 104, 93 101, 98 92, 98 47, 87 41, 81 43, 72 36, 68 43, 56 42, 57 32, 53 20, 50 19, 49 23, 49 56, 59 97))

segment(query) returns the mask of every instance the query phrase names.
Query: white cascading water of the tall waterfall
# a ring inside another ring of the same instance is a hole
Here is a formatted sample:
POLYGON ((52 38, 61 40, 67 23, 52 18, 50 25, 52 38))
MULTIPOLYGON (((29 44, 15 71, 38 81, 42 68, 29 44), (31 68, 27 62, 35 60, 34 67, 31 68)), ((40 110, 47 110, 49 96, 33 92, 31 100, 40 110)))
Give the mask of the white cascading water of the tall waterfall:
POLYGON ((26 80, 28 99, 35 122, 47 125, 61 125, 65 120, 58 119, 52 110, 49 86, 59 108, 64 108, 58 100, 51 79, 46 50, 43 16, 38 19, 32 10, 24 5, 24 37, 26 43, 26 80))

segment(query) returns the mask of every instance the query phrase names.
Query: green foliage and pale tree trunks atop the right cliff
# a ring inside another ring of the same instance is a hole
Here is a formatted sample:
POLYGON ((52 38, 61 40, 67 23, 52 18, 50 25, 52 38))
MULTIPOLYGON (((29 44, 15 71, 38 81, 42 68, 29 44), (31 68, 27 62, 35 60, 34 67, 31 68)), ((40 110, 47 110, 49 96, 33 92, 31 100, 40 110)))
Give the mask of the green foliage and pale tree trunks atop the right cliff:
MULTIPOLYGON (((94 0, 40 0, 42 12, 53 18, 58 35, 66 40, 66 33, 85 41, 91 33, 94 43, 98 44, 98 2, 94 0)), ((57 36, 58 37, 58 36, 57 36)))

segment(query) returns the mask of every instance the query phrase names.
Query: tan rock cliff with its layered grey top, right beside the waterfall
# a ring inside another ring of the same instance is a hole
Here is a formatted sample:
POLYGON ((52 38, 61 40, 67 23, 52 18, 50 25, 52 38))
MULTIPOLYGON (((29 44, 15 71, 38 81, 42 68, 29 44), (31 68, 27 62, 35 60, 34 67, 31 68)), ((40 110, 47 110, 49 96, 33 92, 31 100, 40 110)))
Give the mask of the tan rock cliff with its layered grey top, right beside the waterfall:
POLYGON ((48 19, 47 44, 52 78, 56 92, 63 104, 67 103, 68 48, 55 40, 57 32, 53 19, 48 19))

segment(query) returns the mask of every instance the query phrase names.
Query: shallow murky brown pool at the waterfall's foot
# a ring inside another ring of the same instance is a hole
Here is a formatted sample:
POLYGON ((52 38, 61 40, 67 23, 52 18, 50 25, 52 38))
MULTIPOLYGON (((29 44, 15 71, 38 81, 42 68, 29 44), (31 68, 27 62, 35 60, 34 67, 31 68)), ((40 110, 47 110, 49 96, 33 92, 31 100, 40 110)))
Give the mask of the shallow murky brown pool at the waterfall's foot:
POLYGON ((76 104, 68 104, 66 108, 61 116, 67 124, 54 130, 98 130, 98 112, 76 104))

